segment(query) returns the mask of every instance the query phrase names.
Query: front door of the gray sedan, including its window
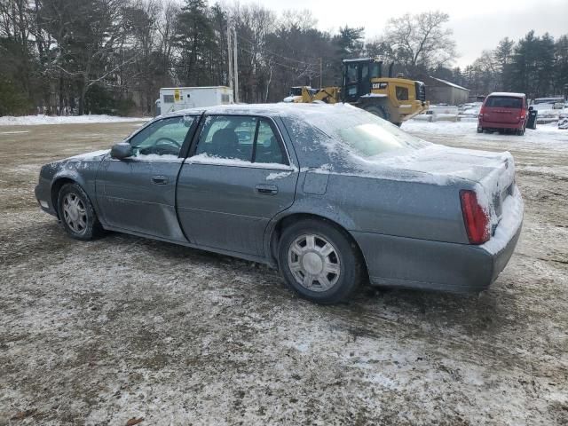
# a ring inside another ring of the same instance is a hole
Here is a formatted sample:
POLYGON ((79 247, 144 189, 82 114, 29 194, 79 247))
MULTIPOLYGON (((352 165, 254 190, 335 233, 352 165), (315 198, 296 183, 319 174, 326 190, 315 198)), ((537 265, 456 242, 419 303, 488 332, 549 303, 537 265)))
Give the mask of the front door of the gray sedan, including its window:
POLYGON ((176 216, 176 179, 196 116, 167 117, 148 124, 127 141, 134 155, 106 156, 97 178, 97 200, 106 227, 186 241, 176 216))

